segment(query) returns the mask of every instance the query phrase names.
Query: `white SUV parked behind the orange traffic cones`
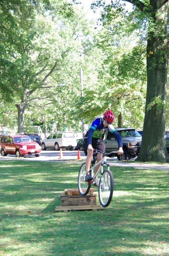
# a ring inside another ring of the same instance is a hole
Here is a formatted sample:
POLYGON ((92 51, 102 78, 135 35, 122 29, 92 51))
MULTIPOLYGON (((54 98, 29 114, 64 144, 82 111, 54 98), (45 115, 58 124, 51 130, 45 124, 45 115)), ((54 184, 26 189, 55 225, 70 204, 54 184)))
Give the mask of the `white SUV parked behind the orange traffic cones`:
POLYGON ((77 145, 77 141, 72 132, 56 132, 50 134, 45 140, 42 140, 42 150, 46 148, 54 148, 60 150, 60 148, 66 148, 74 150, 77 145))

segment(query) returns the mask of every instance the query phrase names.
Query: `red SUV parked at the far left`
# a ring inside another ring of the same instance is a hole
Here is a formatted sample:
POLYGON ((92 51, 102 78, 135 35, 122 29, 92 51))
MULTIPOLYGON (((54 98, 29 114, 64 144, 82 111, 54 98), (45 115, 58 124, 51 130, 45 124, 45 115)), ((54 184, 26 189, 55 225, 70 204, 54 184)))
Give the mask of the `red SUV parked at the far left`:
POLYGON ((41 147, 33 142, 29 136, 23 134, 3 135, 0 140, 1 155, 16 155, 17 157, 25 155, 40 156, 41 147))

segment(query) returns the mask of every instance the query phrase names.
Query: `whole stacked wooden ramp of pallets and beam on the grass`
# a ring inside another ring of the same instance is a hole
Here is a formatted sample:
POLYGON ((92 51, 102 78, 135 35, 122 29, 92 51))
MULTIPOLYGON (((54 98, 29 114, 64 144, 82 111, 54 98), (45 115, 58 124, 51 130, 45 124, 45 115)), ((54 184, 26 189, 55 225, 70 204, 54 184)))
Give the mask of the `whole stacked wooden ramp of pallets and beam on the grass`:
POLYGON ((61 206, 56 206, 55 211, 71 211, 71 210, 93 210, 104 209, 100 204, 96 204, 97 192, 96 188, 90 188, 86 196, 81 196, 78 189, 65 189, 60 194, 61 206))

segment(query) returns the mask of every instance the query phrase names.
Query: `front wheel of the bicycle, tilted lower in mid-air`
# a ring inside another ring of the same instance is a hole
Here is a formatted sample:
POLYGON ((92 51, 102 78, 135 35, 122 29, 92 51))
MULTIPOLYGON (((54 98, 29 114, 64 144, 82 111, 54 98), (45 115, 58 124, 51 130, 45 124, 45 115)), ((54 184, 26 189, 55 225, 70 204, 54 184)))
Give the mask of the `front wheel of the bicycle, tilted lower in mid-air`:
POLYGON ((113 196, 113 175, 109 170, 103 170, 99 182, 99 201, 103 207, 110 204, 113 196))

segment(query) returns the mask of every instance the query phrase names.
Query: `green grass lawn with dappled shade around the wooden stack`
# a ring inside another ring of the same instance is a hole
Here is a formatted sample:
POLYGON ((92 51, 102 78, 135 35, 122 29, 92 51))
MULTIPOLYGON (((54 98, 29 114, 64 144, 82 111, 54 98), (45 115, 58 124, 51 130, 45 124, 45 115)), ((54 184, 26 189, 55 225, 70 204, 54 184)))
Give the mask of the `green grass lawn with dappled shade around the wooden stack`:
POLYGON ((111 166, 109 207, 54 212, 60 192, 77 188, 79 168, 0 161, 0 255, 168 255, 166 171, 111 166))

